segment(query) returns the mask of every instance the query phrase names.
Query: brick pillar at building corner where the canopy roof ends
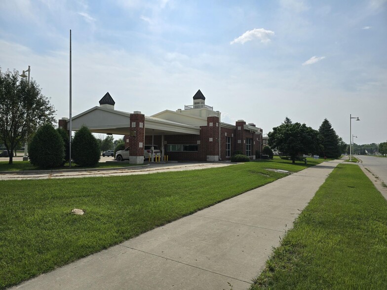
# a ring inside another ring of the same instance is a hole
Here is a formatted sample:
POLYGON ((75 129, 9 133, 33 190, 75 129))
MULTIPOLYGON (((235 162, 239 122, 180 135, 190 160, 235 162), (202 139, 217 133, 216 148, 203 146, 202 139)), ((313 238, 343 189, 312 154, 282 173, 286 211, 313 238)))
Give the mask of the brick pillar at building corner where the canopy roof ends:
POLYGON ((219 117, 207 117, 207 126, 200 126, 200 146, 204 148, 207 161, 219 161, 219 117))

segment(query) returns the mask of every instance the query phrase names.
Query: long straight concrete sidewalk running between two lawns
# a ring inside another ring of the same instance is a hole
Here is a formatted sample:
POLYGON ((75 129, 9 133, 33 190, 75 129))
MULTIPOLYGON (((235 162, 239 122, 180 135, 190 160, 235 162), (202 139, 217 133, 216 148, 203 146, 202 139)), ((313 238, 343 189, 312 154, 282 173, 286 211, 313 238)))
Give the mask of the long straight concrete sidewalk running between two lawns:
POLYGON ((247 289, 338 163, 301 172, 92 254, 13 289, 247 289))

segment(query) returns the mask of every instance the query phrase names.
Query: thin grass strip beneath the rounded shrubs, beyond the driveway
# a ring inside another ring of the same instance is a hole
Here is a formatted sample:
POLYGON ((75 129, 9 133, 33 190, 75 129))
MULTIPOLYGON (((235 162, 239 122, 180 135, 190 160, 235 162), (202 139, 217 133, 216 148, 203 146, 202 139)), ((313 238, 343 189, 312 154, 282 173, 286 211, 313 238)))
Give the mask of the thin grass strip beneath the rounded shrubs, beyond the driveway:
POLYGON ((8 161, 0 161, 0 171, 24 171, 24 170, 65 170, 65 169, 85 169, 85 168, 114 168, 114 167, 128 167, 134 166, 137 164, 129 164, 125 162, 117 162, 117 163, 106 163, 106 162, 98 162, 98 165, 95 167, 80 167, 72 164, 71 168, 69 167, 69 163, 66 163, 64 166, 55 167, 55 168, 47 168, 42 169, 37 166, 34 166, 30 163, 30 161, 13 161, 13 164, 8 164, 8 161))

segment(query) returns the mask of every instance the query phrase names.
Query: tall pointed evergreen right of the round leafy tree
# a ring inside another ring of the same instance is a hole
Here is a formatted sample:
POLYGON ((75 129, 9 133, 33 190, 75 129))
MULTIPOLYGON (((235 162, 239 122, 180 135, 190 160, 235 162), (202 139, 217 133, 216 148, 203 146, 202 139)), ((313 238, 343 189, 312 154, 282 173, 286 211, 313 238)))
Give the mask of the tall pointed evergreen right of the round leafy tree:
POLYGON ((323 151, 320 152, 320 155, 328 158, 340 157, 339 136, 337 136, 328 119, 325 118, 322 121, 318 132, 320 134, 321 145, 323 146, 323 151))

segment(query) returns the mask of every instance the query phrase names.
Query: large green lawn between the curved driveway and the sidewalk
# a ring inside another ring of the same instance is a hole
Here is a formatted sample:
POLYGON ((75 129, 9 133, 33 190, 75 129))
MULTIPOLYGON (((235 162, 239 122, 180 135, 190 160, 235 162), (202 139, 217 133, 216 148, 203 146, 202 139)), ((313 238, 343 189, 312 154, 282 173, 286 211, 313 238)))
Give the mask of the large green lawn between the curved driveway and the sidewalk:
POLYGON ((285 176, 265 168, 306 167, 274 159, 150 175, 0 181, 0 288, 285 176), (86 214, 72 215, 74 208, 86 214))

